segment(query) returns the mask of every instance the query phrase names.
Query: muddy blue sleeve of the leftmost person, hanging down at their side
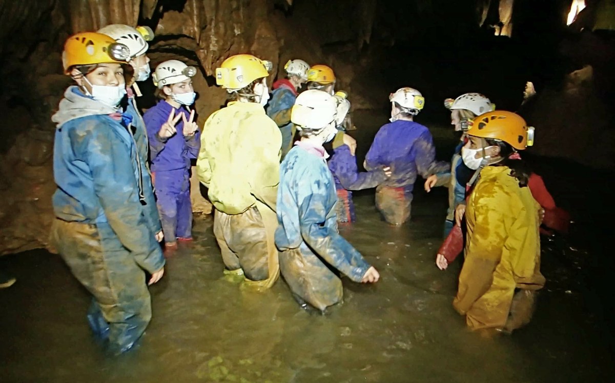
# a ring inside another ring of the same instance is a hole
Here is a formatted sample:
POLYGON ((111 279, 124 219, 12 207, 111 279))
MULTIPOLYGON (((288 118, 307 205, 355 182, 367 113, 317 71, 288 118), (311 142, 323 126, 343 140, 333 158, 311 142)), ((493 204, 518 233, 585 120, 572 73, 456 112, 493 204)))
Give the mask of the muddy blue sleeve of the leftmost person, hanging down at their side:
POLYGON ((80 138, 79 151, 90 165, 94 190, 109 225, 141 268, 157 272, 164 266, 164 257, 141 214, 134 169, 127 166, 133 163, 129 149, 107 126, 80 138))

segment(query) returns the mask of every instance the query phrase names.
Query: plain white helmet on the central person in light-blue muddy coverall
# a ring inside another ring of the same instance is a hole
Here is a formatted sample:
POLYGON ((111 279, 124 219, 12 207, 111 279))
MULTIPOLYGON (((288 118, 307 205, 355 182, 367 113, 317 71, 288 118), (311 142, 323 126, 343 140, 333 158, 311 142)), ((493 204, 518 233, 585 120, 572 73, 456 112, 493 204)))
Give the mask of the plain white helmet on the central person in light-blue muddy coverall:
POLYGON ((332 95, 318 89, 309 89, 297 96, 290 112, 290 121, 299 130, 322 131, 335 123, 337 107, 338 103, 332 95))

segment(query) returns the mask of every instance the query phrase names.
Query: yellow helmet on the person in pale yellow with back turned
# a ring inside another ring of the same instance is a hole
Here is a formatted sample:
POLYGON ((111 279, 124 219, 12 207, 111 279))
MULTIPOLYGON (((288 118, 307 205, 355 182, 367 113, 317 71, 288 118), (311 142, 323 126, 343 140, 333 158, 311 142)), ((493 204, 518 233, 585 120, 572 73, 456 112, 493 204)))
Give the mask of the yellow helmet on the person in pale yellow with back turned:
POLYGON ((239 91, 255 79, 269 76, 272 68, 271 61, 248 54, 234 55, 216 68, 216 84, 229 92, 239 91))

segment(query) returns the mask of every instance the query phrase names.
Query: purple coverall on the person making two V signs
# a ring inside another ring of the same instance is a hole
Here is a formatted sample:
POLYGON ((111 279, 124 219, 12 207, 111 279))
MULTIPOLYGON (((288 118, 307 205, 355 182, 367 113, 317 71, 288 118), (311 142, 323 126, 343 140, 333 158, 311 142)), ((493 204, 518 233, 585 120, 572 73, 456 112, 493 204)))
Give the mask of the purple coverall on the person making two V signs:
MULTIPOLYGON (((167 243, 177 238, 192 238, 192 206, 190 203, 190 159, 197 158, 200 132, 184 137, 183 121, 175 125, 177 133, 167 140, 158 135, 173 108, 161 101, 143 115, 149 137, 149 160, 154 178, 157 206, 162 221, 162 232, 167 243)), ((189 118, 186 108, 175 109, 189 118)))

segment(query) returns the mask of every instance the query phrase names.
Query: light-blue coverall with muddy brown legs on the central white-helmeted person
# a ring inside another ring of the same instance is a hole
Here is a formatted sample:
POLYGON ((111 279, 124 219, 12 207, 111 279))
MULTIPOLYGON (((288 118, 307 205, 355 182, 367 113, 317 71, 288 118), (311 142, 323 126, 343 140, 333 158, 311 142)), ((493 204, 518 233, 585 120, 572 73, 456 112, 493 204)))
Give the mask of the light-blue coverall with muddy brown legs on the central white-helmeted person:
POLYGON ((282 161, 276 246, 280 271, 293 293, 324 310, 342 299, 341 281, 328 265, 355 282, 370 265, 338 233, 335 182, 324 149, 317 149, 296 145, 282 161))

